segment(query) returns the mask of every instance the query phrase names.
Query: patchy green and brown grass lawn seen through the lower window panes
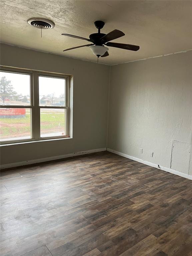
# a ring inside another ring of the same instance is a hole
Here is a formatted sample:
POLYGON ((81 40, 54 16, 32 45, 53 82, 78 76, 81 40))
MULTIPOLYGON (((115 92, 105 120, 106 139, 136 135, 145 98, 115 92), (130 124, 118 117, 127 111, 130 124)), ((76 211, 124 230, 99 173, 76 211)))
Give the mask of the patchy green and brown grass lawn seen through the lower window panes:
MULTIPOLYGON (((11 138, 31 134, 30 110, 25 117, 0 118, 0 137, 11 138)), ((65 130, 65 113, 57 110, 41 110, 41 134, 65 130)))

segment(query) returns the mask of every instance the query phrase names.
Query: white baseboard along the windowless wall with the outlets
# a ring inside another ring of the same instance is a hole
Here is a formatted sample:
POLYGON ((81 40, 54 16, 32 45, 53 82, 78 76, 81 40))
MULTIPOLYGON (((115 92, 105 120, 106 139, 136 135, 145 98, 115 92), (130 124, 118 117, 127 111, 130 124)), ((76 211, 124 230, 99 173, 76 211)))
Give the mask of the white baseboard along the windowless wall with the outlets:
POLYGON ((146 165, 149 165, 151 167, 155 167, 159 170, 162 170, 162 171, 166 171, 166 172, 170 172, 172 174, 175 174, 175 175, 178 175, 178 176, 181 176, 183 178, 186 178, 186 179, 189 179, 189 180, 192 180, 192 176, 189 175, 189 174, 186 174, 186 173, 183 173, 183 172, 178 172, 176 170, 173 170, 171 168, 167 168, 167 167, 164 167, 164 166, 159 166, 157 164, 154 164, 154 163, 151 163, 151 162, 148 162, 148 161, 145 161, 145 160, 142 160, 140 158, 137 158, 137 157, 134 157, 134 156, 130 156, 130 155, 127 155, 127 154, 124 154, 124 153, 121 153, 119 151, 116 151, 116 150, 113 150, 113 149, 110 149, 110 148, 107 148, 107 151, 111 152, 111 153, 114 153, 116 155, 119 155, 119 156, 123 156, 123 157, 126 157, 126 158, 129 158, 133 161, 136 161, 136 162, 139 162, 139 163, 142 163, 142 164, 146 164, 146 165))

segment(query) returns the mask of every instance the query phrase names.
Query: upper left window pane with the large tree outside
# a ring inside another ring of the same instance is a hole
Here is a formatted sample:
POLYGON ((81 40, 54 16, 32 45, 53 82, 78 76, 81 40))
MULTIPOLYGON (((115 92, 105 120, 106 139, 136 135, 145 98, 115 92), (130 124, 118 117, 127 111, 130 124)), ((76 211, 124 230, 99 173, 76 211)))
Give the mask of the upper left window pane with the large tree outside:
POLYGON ((30 105, 30 75, 0 71, 0 105, 30 105))

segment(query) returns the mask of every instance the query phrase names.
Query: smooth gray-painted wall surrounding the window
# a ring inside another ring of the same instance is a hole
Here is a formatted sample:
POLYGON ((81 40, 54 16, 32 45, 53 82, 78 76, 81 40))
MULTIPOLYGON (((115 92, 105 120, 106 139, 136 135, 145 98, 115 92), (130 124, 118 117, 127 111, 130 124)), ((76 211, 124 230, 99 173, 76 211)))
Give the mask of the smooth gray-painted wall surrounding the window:
POLYGON ((73 75, 73 138, 1 146, 1 164, 106 147, 109 66, 5 44, 1 65, 73 75))

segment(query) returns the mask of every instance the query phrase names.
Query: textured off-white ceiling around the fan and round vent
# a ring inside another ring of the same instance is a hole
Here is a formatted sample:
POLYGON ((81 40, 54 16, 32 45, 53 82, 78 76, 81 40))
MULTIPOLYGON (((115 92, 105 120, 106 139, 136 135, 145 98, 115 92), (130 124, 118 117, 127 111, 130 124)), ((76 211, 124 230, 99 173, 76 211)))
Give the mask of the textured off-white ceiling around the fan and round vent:
MULTIPOLYGON (((110 56, 99 62, 117 64, 192 49, 192 1, 64 1, 1 0, 1 42, 68 57, 96 61, 88 47, 62 52, 86 41, 61 33, 88 37, 105 22, 102 33, 119 29, 125 36, 113 42, 140 45, 137 52, 109 47, 110 56), (31 17, 55 23, 43 30, 28 25, 31 17)), ((87 42, 88 43, 88 42, 87 42)))

